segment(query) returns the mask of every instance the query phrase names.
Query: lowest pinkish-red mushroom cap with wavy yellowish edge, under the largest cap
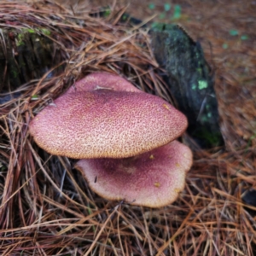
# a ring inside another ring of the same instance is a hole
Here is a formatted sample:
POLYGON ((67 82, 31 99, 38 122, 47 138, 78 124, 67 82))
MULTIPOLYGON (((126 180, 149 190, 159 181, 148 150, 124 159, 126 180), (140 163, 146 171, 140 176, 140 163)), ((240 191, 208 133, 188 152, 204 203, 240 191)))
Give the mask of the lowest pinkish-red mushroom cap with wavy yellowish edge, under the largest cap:
POLYGON ((144 207, 164 207, 183 190, 192 165, 190 149, 173 141, 128 159, 79 160, 90 188, 108 200, 144 207))

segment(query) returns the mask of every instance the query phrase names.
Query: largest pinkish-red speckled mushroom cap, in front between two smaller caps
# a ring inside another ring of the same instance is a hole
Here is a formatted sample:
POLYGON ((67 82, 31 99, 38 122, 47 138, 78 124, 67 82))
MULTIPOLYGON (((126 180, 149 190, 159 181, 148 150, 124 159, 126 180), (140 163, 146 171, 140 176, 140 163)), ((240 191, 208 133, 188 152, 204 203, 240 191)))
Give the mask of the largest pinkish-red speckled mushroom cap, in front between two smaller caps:
POLYGON ((32 119, 29 130, 50 154, 123 158, 179 137, 187 119, 160 97, 93 90, 67 93, 32 119))

